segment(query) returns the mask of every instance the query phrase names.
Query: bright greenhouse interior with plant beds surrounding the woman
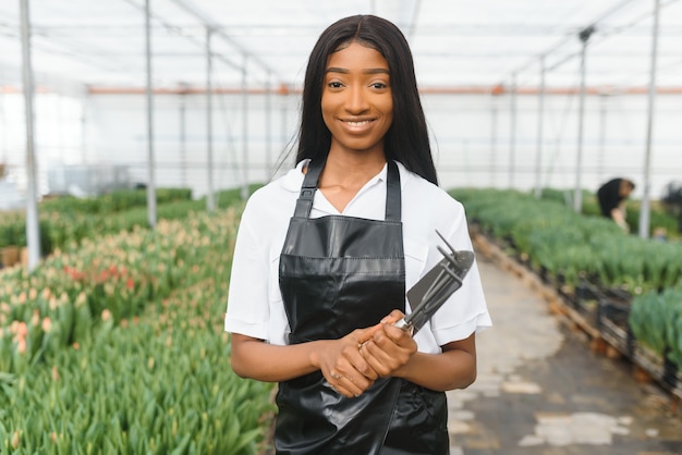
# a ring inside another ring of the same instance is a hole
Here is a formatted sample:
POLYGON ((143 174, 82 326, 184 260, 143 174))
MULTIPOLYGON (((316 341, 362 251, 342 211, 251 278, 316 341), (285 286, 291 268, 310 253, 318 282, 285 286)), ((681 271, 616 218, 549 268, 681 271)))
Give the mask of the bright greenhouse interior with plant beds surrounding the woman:
POLYGON ((450 453, 682 453, 678 0, 0 2, 0 453, 275 453, 278 381, 230 361, 233 254, 356 14, 410 46, 492 320, 450 453))

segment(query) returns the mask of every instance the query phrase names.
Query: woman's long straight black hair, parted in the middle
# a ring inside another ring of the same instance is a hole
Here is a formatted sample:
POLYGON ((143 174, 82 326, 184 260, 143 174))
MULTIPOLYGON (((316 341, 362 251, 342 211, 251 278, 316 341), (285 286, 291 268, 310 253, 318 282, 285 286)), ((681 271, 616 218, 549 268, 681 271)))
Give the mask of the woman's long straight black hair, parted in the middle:
POLYGON ((313 48, 303 86, 296 162, 304 158, 326 158, 329 152, 331 133, 321 111, 327 60, 353 41, 380 52, 391 74, 393 123, 383 140, 386 158, 400 161, 410 171, 437 185, 410 46, 394 24, 375 15, 355 15, 331 24, 313 48))

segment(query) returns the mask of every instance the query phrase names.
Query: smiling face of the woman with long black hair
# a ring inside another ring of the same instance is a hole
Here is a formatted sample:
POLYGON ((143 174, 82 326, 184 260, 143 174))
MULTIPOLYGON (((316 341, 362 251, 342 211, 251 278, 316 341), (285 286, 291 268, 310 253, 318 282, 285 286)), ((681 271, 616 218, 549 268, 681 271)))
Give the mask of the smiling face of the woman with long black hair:
POLYGON ((354 41, 329 56, 321 110, 331 132, 331 150, 383 153, 383 136, 393 122, 393 98, 381 53, 354 41))

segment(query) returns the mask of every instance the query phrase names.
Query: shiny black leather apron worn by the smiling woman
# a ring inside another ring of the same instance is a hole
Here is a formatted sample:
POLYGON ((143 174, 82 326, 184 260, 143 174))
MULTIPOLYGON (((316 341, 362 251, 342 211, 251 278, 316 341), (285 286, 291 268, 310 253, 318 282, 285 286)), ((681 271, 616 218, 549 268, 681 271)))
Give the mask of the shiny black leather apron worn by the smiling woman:
MULTIPOLYGON (((310 219, 325 161, 310 162, 280 256, 290 344, 336 340, 404 311, 400 174, 388 162, 386 221, 310 219)), ((284 381, 277 393, 278 455, 449 453, 444 393, 380 378, 358 397, 331 389, 320 371, 284 381)))

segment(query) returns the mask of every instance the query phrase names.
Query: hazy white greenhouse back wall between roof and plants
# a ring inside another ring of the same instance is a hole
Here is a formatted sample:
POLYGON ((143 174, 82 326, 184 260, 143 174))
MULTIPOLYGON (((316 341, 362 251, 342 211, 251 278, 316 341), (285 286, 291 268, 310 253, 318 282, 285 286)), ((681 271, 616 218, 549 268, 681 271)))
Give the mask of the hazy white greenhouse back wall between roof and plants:
MULTIPOLYGON (((214 188, 265 182, 295 136, 300 95, 219 94, 212 97, 214 188), (244 106, 246 102, 246 106, 244 106), (268 108, 269 106, 269 108, 268 108), (268 115, 270 112, 269 126, 268 115), (247 112, 244 124, 244 112, 247 112)), ((424 94, 434 157, 444 187, 533 188, 538 163, 538 97, 424 94), (512 119, 514 134, 511 134, 512 119)), ((8 180, 25 188, 24 119, 20 94, 0 93, 0 162, 8 180)), ((545 99, 540 182, 573 188, 577 164, 577 95, 545 99)), ((682 96, 658 95, 651 146, 651 197, 682 179, 682 96)), ((585 101, 581 186, 595 190, 616 175, 640 183, 646 150, 646 95, 588 96, 585 101)), ((186 186, 195 197, 208 186, 206 96, 154 98, 157 186, 186 186)), ((147 183, 146 98, 139 94, 86 98, 40 94, 36 99, 36 153, 42 194, 48 170, 63 165, 124 167, 130 184, 147 183)), ((290 162, 285 167, 289 167, 290 162)))

